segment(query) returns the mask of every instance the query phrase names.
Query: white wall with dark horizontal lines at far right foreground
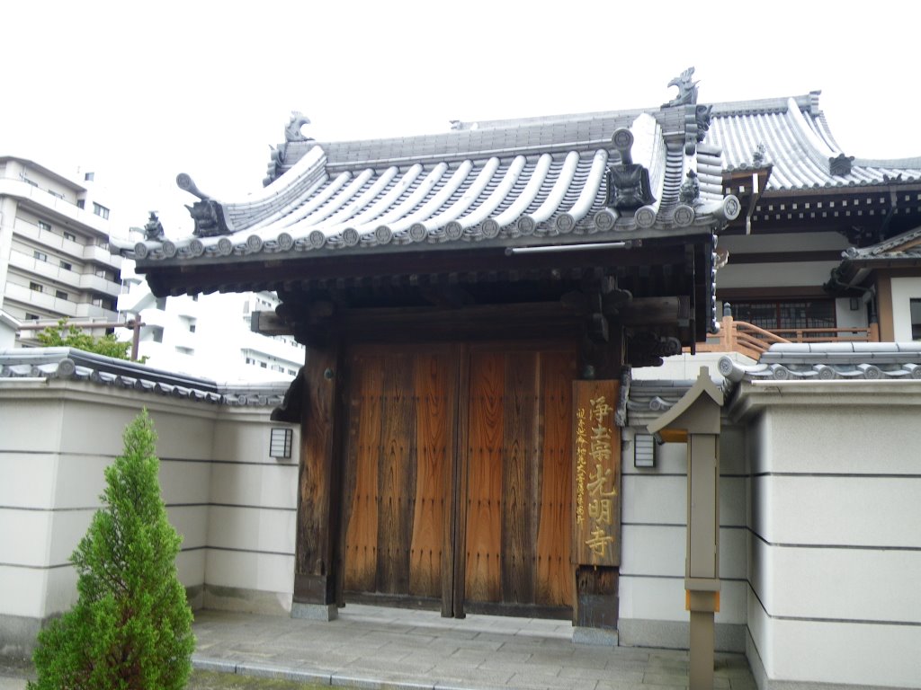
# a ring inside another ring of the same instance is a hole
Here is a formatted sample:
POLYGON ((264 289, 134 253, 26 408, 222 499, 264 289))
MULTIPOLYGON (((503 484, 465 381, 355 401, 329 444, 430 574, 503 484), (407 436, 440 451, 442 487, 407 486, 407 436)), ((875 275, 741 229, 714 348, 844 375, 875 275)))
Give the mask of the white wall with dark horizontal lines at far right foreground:
POLYGON ((762 688, 921 687, 921 384, 744 384, 762 688))

